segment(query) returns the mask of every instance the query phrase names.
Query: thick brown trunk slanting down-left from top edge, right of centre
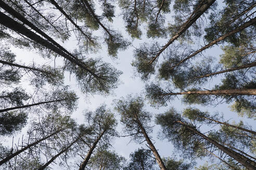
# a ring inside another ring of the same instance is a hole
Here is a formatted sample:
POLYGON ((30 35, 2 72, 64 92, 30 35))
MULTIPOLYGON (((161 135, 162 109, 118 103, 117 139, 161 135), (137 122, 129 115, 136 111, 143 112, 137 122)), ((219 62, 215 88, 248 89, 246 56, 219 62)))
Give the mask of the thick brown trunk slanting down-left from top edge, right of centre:
MULTIPOLYGON (((204 1, 204 0, 203 0, 204 1)), ((149 64, 152 64, 159 55, 167 49, 174 40, 176 40, 178 37, 180 37, 193 23, 196 22, 196 20, 215 2, 216 0, 207 0, 206 3, 202 4, 200 8, 195 10, 192 15, 188 18, 188 20, 181 26, 181 29, 178 30, 178 32, 168 41, 167 44, 165 44, 155 55, 155 57, 149 62, 149 64)))

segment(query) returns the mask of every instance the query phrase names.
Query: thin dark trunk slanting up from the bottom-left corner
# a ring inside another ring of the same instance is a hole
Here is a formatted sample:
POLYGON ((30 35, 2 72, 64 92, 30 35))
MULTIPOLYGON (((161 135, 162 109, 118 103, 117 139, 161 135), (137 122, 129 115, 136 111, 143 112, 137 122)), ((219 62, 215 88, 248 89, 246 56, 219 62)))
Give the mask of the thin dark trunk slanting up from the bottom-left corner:
POLYGON ((3 159, 2 161, 0 161, 0 165, 2 165, 2 164, 4 164, 4 163, 8 162, 10 159, 16 157, 16 156, 17 156, 18 154, 20 154, 21 152, 23 152, 23 151, 29 149, 29 148, 32 147, 32 146, 35 146, 35 145, 39 144, 41 141, 43 141, 43 140, 45 140, 45 139, 47 139, 47 138, 49 138, 49 137, 51 137, 51 136, 53 136, 53 135, 59 133, 59 132, 62 131, 62 130, 63 130, 63 129, 58 130, 58 131, 56 131, 56 132, 54 132, 54 133, 52 133, 52 134, 50 134, 50 135, 48 135, 48 136, 46 136, 46 137, 44 137, 44 138, 42 138, 42 139, 37 140, 37 141, 35 141, 34 143, 29 144, 29 145, 23 147, 22 149, 20 149, 20 150, 14 152, 14 153, 8 155, 8 157, 6 157, 6 158, 3 159))

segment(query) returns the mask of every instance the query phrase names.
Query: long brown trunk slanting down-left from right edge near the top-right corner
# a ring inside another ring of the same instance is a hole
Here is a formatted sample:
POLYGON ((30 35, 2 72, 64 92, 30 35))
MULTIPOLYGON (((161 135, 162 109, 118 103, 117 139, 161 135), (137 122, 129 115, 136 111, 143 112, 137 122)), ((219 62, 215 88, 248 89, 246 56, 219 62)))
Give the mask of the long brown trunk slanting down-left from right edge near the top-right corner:
POLYGON ((238 28, 236 28, 235 30, 221 36, 220 38, 217 38, 215 39, 214 41, 212 41, 211 43, 209 43, 208 45, 202 47, 201 49, 197 50, 196 52, 194 52, 193 54, 189 55, 187 58, 181 60, 180 62, 178 62, 177 64, 175 64, 174 66, 172 66, 170 69, 173 69, 174 67, 177 67, 179 66, 180 64, 184 63, 185 61, 187 61, 188 59, 192 58, 193 56, 195 56, 196 54, 202 52, 203 50, 206 50, 208 48, 210 48, 211 46, 213 46, 214 44, 216 43, 219 43, 220 41, 224 40, 225 38, 233 35, 233 34, 236 34, 244 29, 246 29, 247 27, 253 25, 256 23, 256 17, 254 17, 253 19, 251 19, 250 21, 242 24, 241 26, 239 26, 238 28))

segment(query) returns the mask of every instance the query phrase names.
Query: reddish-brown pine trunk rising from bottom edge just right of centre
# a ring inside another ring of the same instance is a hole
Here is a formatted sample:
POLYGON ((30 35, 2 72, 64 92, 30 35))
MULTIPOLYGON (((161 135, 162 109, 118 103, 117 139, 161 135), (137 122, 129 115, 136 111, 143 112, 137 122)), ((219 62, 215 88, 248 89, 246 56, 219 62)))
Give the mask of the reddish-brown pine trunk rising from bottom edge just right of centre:
MULTIPOLYGON (((137 119, 137 118, 136 118, 136 119, 137 119)), ((152 141, 151 141, 150 138, 148 137, 148 134, 146 133, 146 131, 145 131, 143 125, 140 123, 140 121, 139 121, 138 119, 137 119, 137 123, 138 123, 138 126, 140 127, 140 130, 142 131, 142 133, 143 133, 143 135, 144 135, 144 137, 145 137, 145 139, 146 139, 148 145, 149 145, 149 148, 151 149, 151 151, 152 151, 153 154, 155 155, 156 161, 157 161, 157 163, 158 163, 160 169, 161 169, 161 170, 168 170, 168 169, 165 167, 165 165, 164 165, 164 163, 163 163, 163 161, 162 161, 162 159, 161 159, 161 157, 160 157, 160 155, 159 155, 157 149, 155 148, 155 146, 153 145, 152 141)))

